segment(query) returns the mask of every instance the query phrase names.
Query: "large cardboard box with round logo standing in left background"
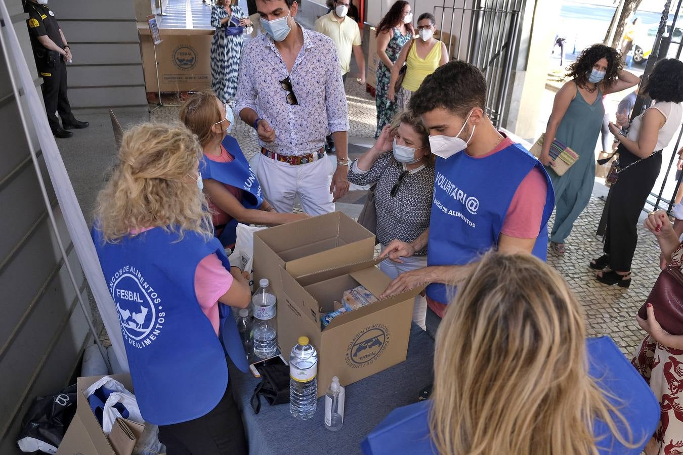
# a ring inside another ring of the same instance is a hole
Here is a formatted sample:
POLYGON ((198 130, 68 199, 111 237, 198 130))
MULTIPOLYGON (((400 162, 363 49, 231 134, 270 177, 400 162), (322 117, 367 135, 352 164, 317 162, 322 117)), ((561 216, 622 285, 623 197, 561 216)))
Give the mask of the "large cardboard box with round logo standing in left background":
POLYGON ((145 91, 158 91, 156 61, 161 91, 198 91, 211 87, 211 40, 213 30, 160 29, 161 43, 154 44, 147 23, 138 25, 145 74, 145 91), (142 27, 144 26, 144 27, 142 27))

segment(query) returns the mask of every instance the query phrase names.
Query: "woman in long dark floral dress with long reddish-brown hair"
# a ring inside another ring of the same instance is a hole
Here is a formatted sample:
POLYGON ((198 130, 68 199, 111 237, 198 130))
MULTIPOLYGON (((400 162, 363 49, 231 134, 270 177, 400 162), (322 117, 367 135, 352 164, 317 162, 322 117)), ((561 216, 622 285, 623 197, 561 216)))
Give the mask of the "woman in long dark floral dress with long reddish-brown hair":
POLYGON ((377 88, 375 93, 375 104, 377 106, 377 131, 375 138, 380 136, 382 128, 391 123, 398 105, 395 101, 389 101, 387 91, 389 91, 389 80, 391 80, 391 68, 398 59, 403 46, 413 39, 415 30, 413 29, 413 12, 410 5, 405 0, 398 0, 394 3, 389 12, 382 18, 377 27, 375 36, 377 37, 377 57, 380 63, 377 65, 377 88))

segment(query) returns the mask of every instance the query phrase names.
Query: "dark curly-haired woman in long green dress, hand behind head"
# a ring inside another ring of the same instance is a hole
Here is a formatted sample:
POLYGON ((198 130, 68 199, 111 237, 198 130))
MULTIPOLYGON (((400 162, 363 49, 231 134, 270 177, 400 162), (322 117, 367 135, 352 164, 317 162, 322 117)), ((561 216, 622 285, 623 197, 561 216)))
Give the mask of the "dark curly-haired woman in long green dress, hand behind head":
POLYGON ((617 50, 602 44, 586 48, 569 71, 572 80, 555 95, 539 158, 555 189, 555 224, 550 231, 550 246, 558 254, 564 254, 565 240, 593 192, 595 148, 604 117, 602 96, 639 83, 637 76, 622 69, 622 57, 617 50), (561 176, 552 171, 550 144, 554 139, 579 155, 579 160, 561 176))

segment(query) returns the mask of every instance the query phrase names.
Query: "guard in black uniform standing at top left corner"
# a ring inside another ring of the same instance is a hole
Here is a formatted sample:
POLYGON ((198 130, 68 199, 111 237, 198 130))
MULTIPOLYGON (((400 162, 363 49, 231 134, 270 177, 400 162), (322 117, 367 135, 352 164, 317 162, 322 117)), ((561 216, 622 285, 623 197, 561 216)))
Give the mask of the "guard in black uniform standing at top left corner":
POLYGON ((66 62, 71 61, 71 48, 61 32, 55 14, 47 7, 48 0, 26 0, 24 11, 31 35, 36 68, 43 78, 42 92, 52 134, 59 138, 73 135, 72 128, 87 128, 87 121, 78 121, 71 113, 66 96, 66 62), (55 112, 59 112, 61 123, 55 112))

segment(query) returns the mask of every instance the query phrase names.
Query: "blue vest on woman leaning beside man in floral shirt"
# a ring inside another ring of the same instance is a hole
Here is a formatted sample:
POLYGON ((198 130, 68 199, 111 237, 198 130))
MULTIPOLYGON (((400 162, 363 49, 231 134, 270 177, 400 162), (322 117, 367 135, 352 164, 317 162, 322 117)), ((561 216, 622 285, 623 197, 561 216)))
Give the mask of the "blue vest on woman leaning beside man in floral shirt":
MULTIPOLYGON (((201 178, 214 179, 220 181, 221 184, 234 186, 244 190, 242 197, 242 205, 247 209, 258 209, 263 203, 263 191, 261 184, 256 178, 256 174, 249 166, 247 158, 245 158, 237 139, 227 135, 223 139, 223 147, 234 156, 234 160, 227 163, 216 162, 204 158, 201 164, 201 178)), ((235 243, 237 239, 237 223, 234 218, 225 226, 219 239, 223 246, 229 246, 235 243)))

